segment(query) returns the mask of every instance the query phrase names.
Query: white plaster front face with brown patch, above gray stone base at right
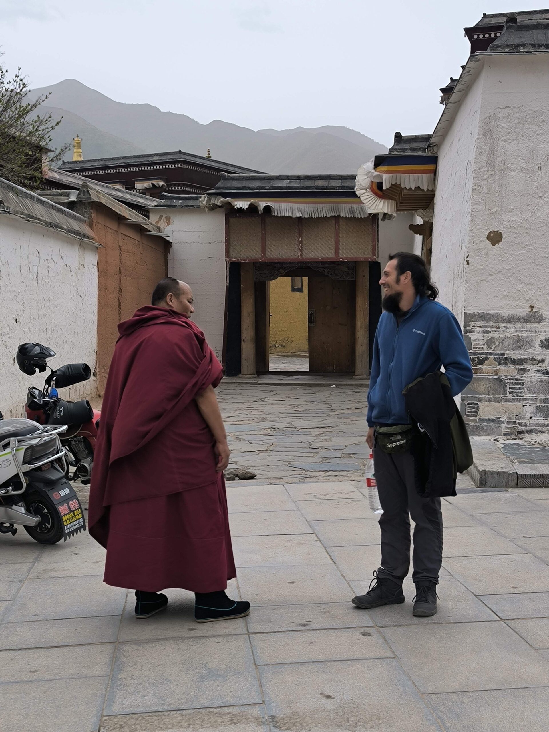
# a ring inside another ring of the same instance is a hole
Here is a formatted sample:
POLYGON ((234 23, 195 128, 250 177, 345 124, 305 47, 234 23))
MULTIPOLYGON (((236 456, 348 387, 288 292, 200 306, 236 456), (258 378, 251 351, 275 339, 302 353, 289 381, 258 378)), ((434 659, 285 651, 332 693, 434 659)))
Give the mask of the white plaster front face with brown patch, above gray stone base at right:
MULTIPOLYGON (((549 308, 549 54, 485 59, 466 310, 549 308), (501 243, 487 235, 498 231, 501 243)), ((440 163, 439 163, 440 164, 440 163)))

